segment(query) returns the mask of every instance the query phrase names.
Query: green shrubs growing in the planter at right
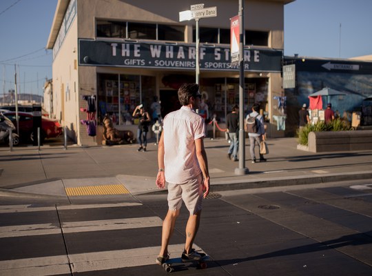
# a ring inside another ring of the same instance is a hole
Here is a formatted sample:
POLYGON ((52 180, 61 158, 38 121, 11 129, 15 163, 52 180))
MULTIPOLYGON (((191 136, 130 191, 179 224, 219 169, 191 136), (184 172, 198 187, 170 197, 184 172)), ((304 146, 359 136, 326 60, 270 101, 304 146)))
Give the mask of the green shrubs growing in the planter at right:
POLYGON ((344 131, 351 130, 349 121, 342 119, 334 119, 329 124, 325 124, 324 121, 318 121, 316 124, 307 124, 301 130, 297 130, 298 144, 308 146, 308 136, 311 131, 344 131))

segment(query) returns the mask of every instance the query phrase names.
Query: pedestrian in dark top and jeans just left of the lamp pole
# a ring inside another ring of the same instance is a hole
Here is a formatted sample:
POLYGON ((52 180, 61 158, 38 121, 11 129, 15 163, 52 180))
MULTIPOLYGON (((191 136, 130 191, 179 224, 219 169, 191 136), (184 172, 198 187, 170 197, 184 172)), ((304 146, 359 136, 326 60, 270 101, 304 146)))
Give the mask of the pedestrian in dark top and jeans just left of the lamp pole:
POLYGON ((233 161, 238 161, 238 147, 239 147, 239 108, 237 105, 233 106, 231 113, 226 117, 226 131, 230 138, 230 147, 227 151, 227 157, 233 161))

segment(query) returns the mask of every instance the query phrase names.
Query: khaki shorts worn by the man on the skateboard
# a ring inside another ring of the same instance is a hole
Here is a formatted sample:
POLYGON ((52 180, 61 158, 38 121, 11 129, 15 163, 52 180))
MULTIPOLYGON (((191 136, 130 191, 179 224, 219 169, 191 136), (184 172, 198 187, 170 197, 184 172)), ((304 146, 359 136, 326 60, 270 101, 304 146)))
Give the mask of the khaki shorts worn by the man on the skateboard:
POLYGON ((202 181, 203 177, 200 174, 196 179, 187 181, 185 184, 168 183, 169 210, 180 210, 183 201, 191 215, 198 213, 202 209, 202 181))

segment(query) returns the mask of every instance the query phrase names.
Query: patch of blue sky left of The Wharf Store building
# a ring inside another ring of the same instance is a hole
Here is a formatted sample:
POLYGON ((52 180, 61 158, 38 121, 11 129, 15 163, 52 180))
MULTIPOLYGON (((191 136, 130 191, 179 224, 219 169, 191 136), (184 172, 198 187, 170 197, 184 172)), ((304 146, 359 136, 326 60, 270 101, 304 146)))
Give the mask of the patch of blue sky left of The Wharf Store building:
POLYGON ((45 78, 52 79, 52 50, 45 50, 57 0, 0 1, 0 94, 43 95, 45 78), (15 65, 15 68, 14 68, 15 65), (5 70, 5 73, 4 73, 5 70), (4 78, 5 76, 5 78, 4 78))

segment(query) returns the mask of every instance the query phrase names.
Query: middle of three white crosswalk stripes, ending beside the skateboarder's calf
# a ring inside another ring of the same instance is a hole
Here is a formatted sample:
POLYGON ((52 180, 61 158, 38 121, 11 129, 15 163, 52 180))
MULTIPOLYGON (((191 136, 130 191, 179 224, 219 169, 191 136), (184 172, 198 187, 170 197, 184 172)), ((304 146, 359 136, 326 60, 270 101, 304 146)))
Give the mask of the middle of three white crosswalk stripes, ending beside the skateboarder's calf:
MULTIPOLYGON (((105 219, 94 221, 63 222, 63 233, 92 232, 102 230, 123 230, 162 226, 160 217, 134 217, 130 219, 105 219)), ((61 234, 61 228, 55 224, 28 224, 0 227, 0 238, 34 235, 61 234)))

